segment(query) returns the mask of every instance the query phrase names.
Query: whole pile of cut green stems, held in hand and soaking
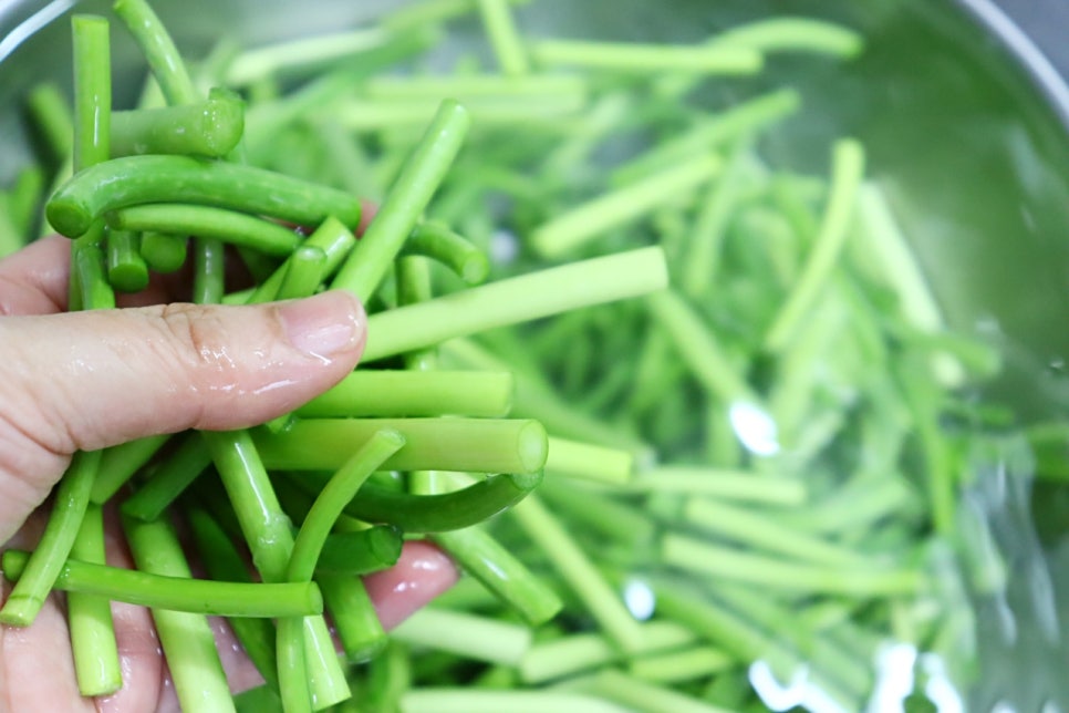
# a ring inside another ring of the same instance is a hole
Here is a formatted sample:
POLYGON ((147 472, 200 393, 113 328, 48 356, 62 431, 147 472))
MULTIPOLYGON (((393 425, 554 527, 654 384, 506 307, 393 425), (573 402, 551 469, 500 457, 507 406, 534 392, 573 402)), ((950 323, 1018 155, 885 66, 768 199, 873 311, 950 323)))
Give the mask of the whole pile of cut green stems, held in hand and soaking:
POLYGON ((151 607, 198 711, 954 698, 973 602, 1007 586, 966 494, 1029 474, 1031 445, 977 397, 998 353, 945 329, 864 147, 828 146, 824 175, 776 167, 764 141, 802 97, 747 89, 772 54, 847 63, 862 38, 775 18, 693 45, 528 40, 513 4, 424 0, 184 62, 117 0, 151 70, 124 111, 108 20, 73 18, 73 101, 29 97, 49 157, 3 194, 3 249, 72 238, 71 309, 178 269, 204 303, 347 289, 369 342, 271 423, 80 453, 37 549, 3 554, 0 621, 66 590, 81 690, 102 695, 122 683, 107 601, 151 607), (229 260, 256 286, 228 285, 229 260), (127 484, 136 577, 103 560, 101 505, 127 484), (387 636, 360 575, 416 537, 464 577, 387 636), (231 699, 208 613, 267 685, 231 699), (313 655, 324 617, 342 659, 313 655))

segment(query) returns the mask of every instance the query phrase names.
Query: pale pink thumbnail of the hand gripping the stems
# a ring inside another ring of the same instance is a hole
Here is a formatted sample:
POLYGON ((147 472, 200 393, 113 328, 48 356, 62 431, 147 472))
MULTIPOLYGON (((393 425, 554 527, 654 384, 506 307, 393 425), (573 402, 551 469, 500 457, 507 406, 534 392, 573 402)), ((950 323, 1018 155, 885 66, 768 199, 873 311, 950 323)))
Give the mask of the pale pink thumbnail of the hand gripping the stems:
POLYGON ((363 349, 364 310, 352 294, 331 290, 279 308, 286 335, 297 349, 331 359, 363 349))

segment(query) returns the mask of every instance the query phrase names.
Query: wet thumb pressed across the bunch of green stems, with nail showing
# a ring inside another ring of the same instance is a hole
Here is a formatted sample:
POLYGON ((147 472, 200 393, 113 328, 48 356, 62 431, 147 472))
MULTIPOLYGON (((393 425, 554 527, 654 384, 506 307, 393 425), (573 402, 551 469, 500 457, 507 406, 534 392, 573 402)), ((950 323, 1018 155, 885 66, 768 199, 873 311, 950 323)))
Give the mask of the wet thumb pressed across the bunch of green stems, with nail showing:
POLYGON ((76 450, 281 415, 352 371, 365 322, 343 291, 0 319, 0 479, 43 497, 76 450))

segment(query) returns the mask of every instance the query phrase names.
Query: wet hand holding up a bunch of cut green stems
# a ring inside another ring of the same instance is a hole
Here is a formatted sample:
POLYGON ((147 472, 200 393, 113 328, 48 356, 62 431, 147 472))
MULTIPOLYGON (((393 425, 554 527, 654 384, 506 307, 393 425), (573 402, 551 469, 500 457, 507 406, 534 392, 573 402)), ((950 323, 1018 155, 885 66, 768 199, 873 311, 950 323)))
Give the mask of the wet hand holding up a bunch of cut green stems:
MULTIPOLYGON (((143 306, 65 313, 70 242, 45 238, 0 260, 0 542, 32 548, 37 512, 71 455, 187 428, 262 423, 325 391, 355 366, 365 317, 332 291, 253 307, 151 304, 160 285, 131 298, 143 306)), ((110 518, 110 565, 131 557, 110 518)), ((449 560, 409 542, 393 569, 366 586, 392 627, 448 588, 449 560)), ((0 585, 0 598, 10 586, 0 585)), ((177 711, 148 611, 113 604, 122 691, 81 699, 61 597, 25 629, 0 627, 2 711, 177 711)), ((258 674, 226 626, 219 650, 235 690, 258 674)))

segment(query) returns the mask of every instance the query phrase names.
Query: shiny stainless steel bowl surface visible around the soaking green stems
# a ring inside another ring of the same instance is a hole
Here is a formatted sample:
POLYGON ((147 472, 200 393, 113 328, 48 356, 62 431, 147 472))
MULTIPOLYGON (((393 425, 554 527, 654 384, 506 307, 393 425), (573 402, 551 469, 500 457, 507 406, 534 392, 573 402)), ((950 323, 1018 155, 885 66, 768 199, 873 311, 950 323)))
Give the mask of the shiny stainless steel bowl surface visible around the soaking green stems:
MULTIPOLYGON (((70 80, 62 20, 72 4, 0 3, 0 184, 30 156, 20 97, 42 79, 70 80)), ((190 56, 205 54, 224 32, 249 42, 300 37, 373 18, 395 4, 154 2, 190 56)), ((75 7, 104 12, 107 3, 84 0, 75 7)), ((949 322, 1001 345, 1008 369, 993 394, 1029 416, 1069 410, 1069 87, 1059 74, 1069 72, 1069 45, 1061 42, 1069 6, 1059 0, 539 0, 519 12, 533 33, 629 40, 697 40, 774 12, 860 29, 869 49, 854 63, 770 66, 769 84, 797 86, 806 104, 775 135, 777 162, 820 168, 832 140, 860 138, 949 322)), ((142 70, 135 51, 121 33, 114 39, 115 85, 136 86, 133 80, 142 70)), ((1051 629, 1069 621, 1069 549, 1058 541, 1045 550, 1045 560, 1023 565, 1023 572, 1039 574, 1008 602, 1017 640, 984 637, 989 674, 973 695, 976 710, 1006 695, 1019 701, 1018 710, 1038 710, 1029 691, 1040 683, 1055 700, 1069 701, 1062 675, 1069 648, 1061 631, 1051 629), (1054 572, 1052 590, 1037 593, 1048 581, 1045 572, 1054 572)), ((998 624, 982 622, 986 627, 994 632, 998 624)))

